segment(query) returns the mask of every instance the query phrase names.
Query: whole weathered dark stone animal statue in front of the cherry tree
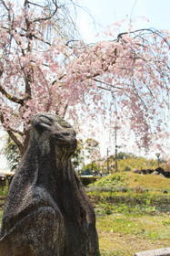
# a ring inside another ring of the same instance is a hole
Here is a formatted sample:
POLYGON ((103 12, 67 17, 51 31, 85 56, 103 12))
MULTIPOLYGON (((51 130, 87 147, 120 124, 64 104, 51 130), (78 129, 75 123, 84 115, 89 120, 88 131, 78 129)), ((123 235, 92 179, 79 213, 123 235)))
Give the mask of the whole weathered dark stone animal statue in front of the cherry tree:
POLYGON ((75 131, 38 114, 11 183, 1 229, 1 256, 99 255, 95 212, 73 170, 75 131))

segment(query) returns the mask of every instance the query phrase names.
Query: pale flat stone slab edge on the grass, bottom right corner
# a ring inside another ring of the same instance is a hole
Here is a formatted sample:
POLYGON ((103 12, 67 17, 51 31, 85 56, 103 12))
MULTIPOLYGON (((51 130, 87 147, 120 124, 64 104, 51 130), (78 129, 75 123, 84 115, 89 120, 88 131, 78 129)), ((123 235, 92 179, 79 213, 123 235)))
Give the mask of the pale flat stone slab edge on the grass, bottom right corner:
POLYGON ((170 256, 170 247, 152 251, 139 251, 135 253, 135 256, 170 256))

